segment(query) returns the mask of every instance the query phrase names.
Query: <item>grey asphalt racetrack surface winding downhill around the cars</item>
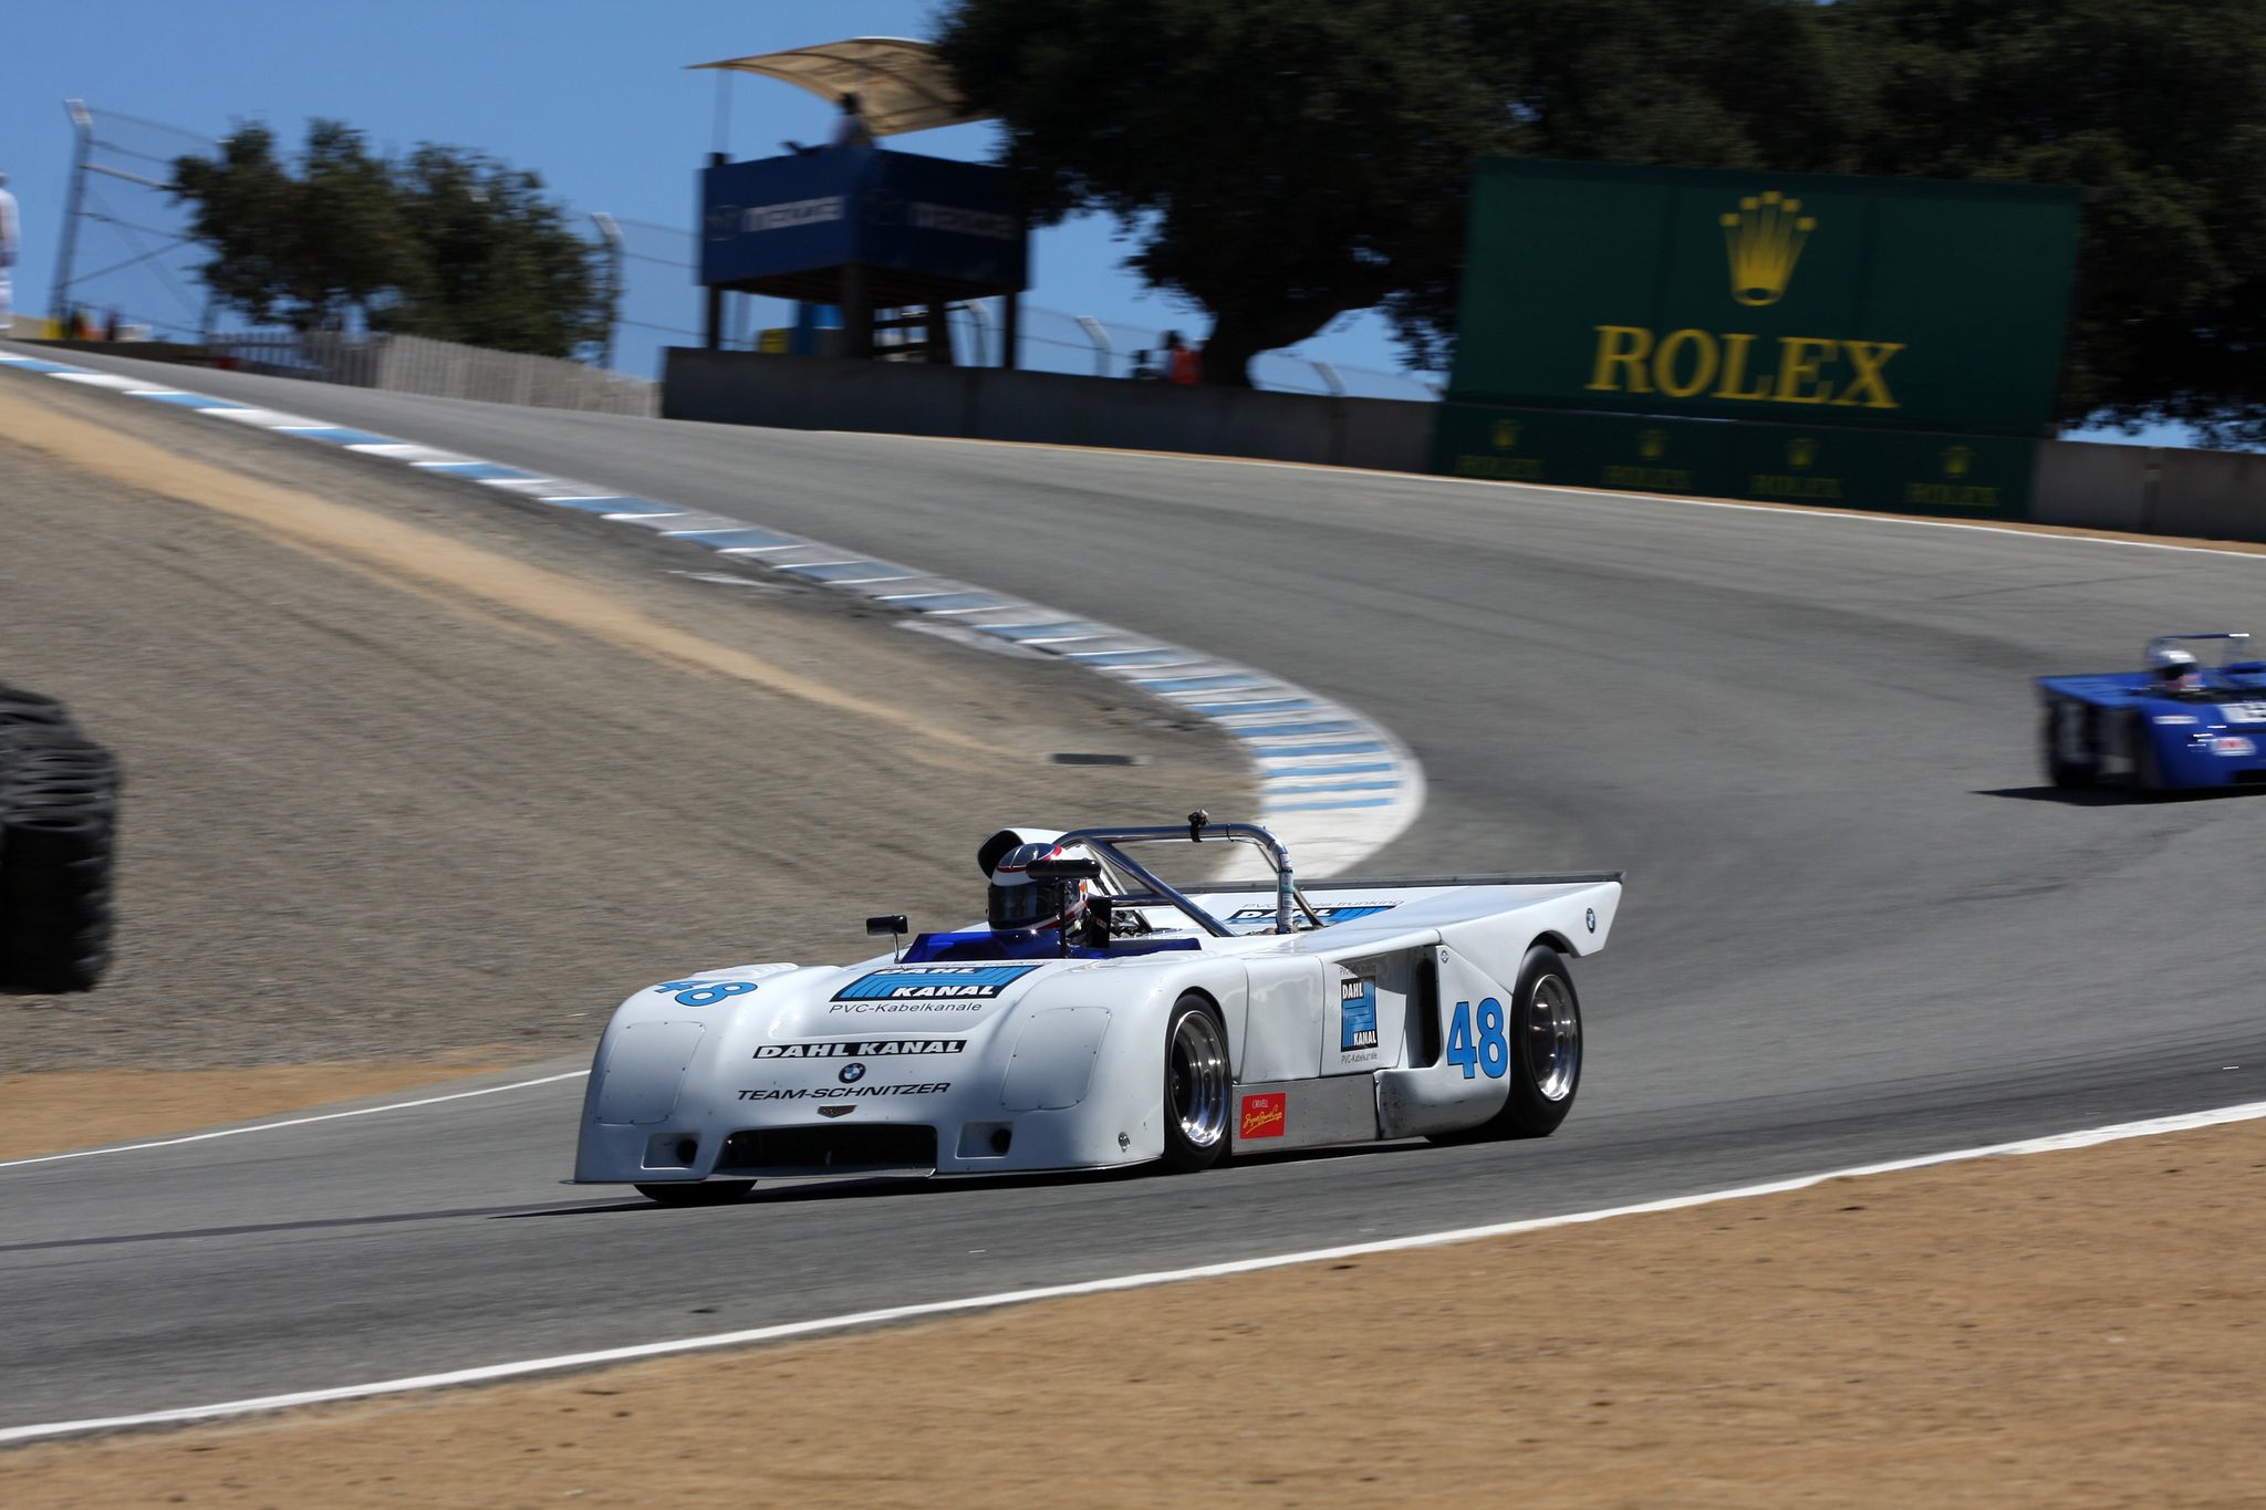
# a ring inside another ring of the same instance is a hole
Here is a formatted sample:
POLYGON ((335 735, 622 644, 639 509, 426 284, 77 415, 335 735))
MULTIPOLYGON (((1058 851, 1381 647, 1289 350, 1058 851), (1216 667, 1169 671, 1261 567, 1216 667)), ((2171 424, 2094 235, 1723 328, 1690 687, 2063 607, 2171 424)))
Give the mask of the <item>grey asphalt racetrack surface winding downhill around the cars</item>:
POLYGON ((1629 890, 1541 1143, 664 1209, 560 1184, 562 1082, 0 1168, 0 1426, 1654 1200, 2255 1100, 2266 1071, 2266 801, 2042 790, 2026 686, 2266 629, 2261 557, 88 362, 1283 672, 1425 763, 1366 872, 1629 890))

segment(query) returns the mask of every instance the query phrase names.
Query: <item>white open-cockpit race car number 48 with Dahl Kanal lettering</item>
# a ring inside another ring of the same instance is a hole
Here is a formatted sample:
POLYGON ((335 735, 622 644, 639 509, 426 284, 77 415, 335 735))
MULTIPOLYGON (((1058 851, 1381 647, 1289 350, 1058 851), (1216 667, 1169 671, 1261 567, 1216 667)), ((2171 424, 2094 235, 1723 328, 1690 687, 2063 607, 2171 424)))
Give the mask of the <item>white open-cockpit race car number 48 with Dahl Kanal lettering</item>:
MULTIPOLYGON (((1301 887, 1253 824, 1004 829, 988 926, 861 964, 741 964, 614 1012, 576 1179, 659 1202, 757 1179, 999 1175, 1430 1136, 1545 1136, 1582 1082, 1566 960, 1620 872, 1301 887), (1126 849, 1255 844, 1273 885, 1126 849)), ((904 937, 902 917, 868 919, 904 937)))

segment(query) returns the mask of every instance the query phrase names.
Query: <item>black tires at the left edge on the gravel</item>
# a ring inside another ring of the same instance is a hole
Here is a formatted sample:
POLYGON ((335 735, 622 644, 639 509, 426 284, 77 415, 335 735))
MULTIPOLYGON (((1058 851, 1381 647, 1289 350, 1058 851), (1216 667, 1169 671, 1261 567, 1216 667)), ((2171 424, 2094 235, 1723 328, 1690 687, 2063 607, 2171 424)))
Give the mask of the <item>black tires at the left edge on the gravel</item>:
POLYGON ((91 992, 111 962, 118 758, 0 681, 0 992, 91 992))

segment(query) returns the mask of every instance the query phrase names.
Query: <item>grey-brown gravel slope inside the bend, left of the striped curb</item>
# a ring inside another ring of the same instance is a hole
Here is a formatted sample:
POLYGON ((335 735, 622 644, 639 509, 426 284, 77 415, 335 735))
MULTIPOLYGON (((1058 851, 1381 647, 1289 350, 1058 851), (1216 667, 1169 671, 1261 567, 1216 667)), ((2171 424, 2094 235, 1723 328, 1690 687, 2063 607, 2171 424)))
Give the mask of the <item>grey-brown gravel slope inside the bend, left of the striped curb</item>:
MULTIPOLYGON (((118 962, 0 996, 0 1075, 546 1059, 673 973, 981 917, 1004 822, 1255 806, 1224 733, 1076 666, 27 374, 0 374, 0 681, 127 772, 118 962)), ((174 1125, 256 1109, 286 1107, 174 1125)))

